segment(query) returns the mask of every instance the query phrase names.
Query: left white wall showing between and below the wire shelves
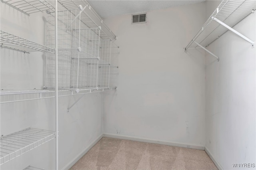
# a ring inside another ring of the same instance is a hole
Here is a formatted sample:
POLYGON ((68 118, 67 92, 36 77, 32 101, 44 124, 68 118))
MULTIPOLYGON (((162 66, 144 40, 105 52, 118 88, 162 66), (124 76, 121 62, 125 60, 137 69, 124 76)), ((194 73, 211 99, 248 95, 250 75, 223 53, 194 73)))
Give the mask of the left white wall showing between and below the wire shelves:
MULTIPOLYGON (((1 30, 45 44, 46 13, 27 16, 0 2, 1 30)), ((1 89, 42 89, 46 55, 1 50, 1 89)), ((102 94, 86 94, 67 113, 80 96, 59 99, 59 169, 70 163, 89 144, 102 135, 102 94)), ((6 97, 5 97, 6 98, 6 97)), ((7 97, 9 98, 9 97, 7 97)), ((2 100, 4 98, 1 97, 2 100)), ((10 99, 22 99, 11 96, 10 99)), ((34 127, 55 131, 55 100, 41 99, 1 104, 0 134, 7 135, 34 127)), ((55 168, 55 139, 1 166, 1 169, 55 168)))

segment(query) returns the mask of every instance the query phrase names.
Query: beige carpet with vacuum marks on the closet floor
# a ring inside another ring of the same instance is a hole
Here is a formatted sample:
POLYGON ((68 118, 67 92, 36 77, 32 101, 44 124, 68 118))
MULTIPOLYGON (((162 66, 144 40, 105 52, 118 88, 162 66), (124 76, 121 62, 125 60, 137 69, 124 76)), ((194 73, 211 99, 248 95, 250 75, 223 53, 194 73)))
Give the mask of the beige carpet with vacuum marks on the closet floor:
POLYGON ((204 150, 103 137, 70 170, 218 170, 204 150))

